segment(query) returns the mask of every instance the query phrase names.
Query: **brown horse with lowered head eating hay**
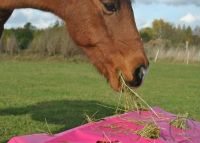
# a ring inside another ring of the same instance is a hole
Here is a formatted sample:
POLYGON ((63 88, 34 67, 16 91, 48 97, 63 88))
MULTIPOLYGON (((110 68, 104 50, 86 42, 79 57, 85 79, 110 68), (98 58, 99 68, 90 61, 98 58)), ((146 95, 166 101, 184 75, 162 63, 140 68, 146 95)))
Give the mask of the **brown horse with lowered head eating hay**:
POLYGON ((69 34, 119 91, 118 72, 132 86, 140 86, 148 60, 136 28, 131 0, 0 0, 0 36, 17 8, 50 11, 67 24, 69 34))

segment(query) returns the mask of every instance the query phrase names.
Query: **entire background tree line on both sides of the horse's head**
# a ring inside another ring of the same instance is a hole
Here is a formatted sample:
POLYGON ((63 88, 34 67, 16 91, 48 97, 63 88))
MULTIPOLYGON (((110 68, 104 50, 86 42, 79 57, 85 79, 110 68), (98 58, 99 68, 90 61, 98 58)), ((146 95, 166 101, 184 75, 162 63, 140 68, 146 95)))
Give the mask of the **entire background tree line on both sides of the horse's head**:
MULTIPOLYGON (((157 42, 165 48, 180 48, 185 47, 187 41, 200 48, 198 26, 194 29, 185 25, 174 26, 163 19, 157 19, 153 21, 152 27, 140 29, 140 34, 145 45, 157 42)), ((70 39, 65 25, 56 21, 46 29, 37 29, 31 23, 26 23, 22 28, 5 29, 0 41, 0 53, 63 55, 68 58, 82 55, 83 52, 70 39)))

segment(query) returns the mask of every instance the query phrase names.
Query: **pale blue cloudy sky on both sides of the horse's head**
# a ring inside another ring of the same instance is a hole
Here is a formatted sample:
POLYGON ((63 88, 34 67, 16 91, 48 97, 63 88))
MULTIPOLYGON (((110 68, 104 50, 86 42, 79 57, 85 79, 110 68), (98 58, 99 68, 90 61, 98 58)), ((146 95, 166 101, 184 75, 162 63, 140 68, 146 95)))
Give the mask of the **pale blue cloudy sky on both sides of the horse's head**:
MULTIPOLYGON (((139 29, 151 26, 153 20, 161 18, 175 26, 200 26, 200 0, 135 0, 133 10, 139 29)), ((22 27, 31 22, 38 28, 46 28, 58 19, 51 13, 21 9, 14 11, 5 27, 22 27)))

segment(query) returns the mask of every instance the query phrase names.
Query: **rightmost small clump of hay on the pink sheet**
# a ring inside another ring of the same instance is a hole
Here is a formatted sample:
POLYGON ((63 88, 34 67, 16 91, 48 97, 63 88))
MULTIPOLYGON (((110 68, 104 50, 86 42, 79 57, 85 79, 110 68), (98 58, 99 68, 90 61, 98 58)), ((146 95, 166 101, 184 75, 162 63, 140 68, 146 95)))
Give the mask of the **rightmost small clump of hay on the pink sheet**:
POLYGON ((172 120, 170 122, 170 125, 178 128, 178 129, 182 129, 182 130, 186 130, 189 128, 188 124, 187 124, 187 119, 188 119, 189 114, 179 114, 177 115, 176 119, 172 120))

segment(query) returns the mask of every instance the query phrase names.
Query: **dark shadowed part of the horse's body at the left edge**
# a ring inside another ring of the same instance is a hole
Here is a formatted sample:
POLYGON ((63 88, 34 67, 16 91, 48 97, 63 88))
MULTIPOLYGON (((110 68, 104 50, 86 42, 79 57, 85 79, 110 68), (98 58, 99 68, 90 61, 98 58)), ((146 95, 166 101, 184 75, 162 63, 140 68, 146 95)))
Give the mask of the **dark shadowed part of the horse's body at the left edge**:
POLYGON ((0 10, 0 38, 3 33, 4 24, 8 20, 8 18, 11 16, 13 10, 0 10))

